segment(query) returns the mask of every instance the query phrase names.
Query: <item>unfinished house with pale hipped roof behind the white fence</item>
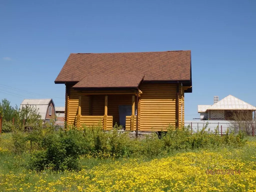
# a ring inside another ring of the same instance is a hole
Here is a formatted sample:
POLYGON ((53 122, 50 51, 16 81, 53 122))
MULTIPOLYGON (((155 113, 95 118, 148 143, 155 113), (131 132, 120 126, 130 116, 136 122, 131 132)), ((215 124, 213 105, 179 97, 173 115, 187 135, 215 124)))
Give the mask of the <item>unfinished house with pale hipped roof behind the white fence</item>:
POLYGON ((256 107, 232 96, 228 95, 220 101, 214 98, 213 105, 198 105, 198 113, 200 113, 201 120, 230 120, 234 113, 243 111, 250 113, 253 116, 253 111, 256 107))

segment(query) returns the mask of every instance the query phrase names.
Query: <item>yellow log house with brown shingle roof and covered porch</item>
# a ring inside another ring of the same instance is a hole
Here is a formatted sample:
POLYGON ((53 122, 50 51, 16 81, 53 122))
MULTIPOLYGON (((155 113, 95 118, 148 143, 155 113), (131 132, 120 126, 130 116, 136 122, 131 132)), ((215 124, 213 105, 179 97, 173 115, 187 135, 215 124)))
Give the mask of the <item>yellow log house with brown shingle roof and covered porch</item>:
POLYGON ((69 125, 179 127, 184 93, 192 92, 191 51, 70 54, 55 83, 66 85, 69 125))

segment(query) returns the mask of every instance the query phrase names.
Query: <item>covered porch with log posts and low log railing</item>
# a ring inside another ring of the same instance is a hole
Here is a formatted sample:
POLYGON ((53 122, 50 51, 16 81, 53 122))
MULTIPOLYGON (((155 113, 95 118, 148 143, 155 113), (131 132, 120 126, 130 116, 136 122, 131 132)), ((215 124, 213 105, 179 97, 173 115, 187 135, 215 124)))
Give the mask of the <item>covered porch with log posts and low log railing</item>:
MULTIPOLYGON (((125 130, 140 130, 140 96, 142 91, 78 91, 76 127, 100 125, 103 130, 113 129, 117 123, 125 130)), ((71 103, 70 103, 71 104, 71 103)), ((70 104, 68 106, 70 106, 70 104)), ((69 109, 70 111, 70 109, 69 109)))

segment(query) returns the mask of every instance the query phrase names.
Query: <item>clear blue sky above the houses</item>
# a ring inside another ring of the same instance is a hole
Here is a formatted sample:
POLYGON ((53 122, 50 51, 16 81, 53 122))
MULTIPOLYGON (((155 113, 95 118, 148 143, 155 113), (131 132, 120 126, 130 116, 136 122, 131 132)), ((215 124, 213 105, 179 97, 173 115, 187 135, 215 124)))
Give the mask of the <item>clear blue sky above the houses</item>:
POLYGON ((0 100, 51 96, 64 106, 65 86, 54 80, 71 52, 191 50, 185 120, 214 95, 255 106, 255 10, 253 0, 1 1, 0 100))

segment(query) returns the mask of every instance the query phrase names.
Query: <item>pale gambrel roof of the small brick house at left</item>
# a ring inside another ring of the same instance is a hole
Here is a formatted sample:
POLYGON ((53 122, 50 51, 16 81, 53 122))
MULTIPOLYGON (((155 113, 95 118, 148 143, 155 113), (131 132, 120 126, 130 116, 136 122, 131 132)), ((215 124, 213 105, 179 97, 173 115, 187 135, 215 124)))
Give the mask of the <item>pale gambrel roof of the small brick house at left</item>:
POLYGON ((39 115, 41 115, 41 119, 45 120, 48 105, 51 101, 52 99, 24 99, 20 104, 20 108, 25 107, 26 105, 33 105, 36 109, 38 109, 39 115))

